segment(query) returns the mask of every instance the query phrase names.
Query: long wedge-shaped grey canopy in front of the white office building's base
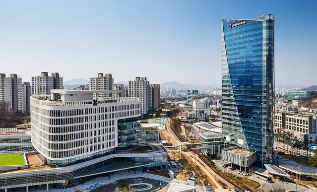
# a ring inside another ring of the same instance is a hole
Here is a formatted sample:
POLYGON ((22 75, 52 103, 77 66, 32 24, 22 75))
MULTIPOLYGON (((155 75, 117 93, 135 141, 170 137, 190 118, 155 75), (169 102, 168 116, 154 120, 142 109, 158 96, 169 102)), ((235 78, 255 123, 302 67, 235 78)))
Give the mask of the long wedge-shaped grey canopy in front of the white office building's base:
POLYGON ((137 167, 143 167, 143 166, 148 166, 148 165, 151 165, 151 163, 142 164, 142 163, 130 163, 130 162, 126 162, 126 161, 117 161, 115 163, 112 163, 110 165, 93 170, 93 171, 88 172, 86 174, 83 174, 81 176, 74 177, 74 179, 93 176, 93 175, 99 175, 99 174, 104 174, 104 173, 110 173, 110 172, 115 172, 115 171, 121 171, 121 170, 126 170, 126 169, 132 169, 132 168, 137 168, 137 167))

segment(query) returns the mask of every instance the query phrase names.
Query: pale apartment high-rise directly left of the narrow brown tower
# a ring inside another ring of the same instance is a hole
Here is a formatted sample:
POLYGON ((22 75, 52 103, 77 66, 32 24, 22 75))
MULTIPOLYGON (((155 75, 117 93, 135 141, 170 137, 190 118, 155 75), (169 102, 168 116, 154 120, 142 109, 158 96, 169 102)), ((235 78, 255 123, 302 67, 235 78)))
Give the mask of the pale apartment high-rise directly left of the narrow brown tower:
POLYGON ((140 97, 141 115, 144 117, 150 110, 150 82, 146 77, 135 77, 128 81, 129 97, 140 97))

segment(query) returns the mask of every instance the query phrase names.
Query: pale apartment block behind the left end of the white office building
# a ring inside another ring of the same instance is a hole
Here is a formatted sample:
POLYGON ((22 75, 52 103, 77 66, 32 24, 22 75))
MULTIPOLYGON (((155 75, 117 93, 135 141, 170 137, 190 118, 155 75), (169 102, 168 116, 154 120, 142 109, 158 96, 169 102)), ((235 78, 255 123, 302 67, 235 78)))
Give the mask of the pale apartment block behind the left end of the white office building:
POLYGON ((59 73, 42 72, 41 76, 32 76, 32 95, 51 95, 52 89, 63 89, 63 77, 59 73))

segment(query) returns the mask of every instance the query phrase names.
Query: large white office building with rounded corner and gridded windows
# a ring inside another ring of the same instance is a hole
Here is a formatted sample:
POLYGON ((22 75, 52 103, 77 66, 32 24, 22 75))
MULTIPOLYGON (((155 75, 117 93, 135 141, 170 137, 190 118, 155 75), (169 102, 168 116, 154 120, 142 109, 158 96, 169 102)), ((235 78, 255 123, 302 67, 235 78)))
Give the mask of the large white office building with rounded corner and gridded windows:
POLYGON ((93 98, 94 93, 115 91, 51 92, 51 96, 31 98, 31 140, 52 164, 69 164, 118 147, 118 121, 140 116, 137 97, 93 98), (55 101, 55 94, 61 101, 55 101))

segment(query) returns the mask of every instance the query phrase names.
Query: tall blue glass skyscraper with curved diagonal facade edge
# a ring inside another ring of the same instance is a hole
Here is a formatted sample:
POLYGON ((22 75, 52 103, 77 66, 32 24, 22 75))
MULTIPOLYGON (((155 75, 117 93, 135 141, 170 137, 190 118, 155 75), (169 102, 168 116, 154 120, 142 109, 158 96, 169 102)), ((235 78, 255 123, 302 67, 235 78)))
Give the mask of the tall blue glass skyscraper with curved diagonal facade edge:
POLYGON ((274 16, 222 20, 222 137, 272 163, 274 16))

